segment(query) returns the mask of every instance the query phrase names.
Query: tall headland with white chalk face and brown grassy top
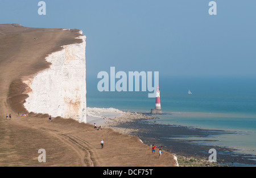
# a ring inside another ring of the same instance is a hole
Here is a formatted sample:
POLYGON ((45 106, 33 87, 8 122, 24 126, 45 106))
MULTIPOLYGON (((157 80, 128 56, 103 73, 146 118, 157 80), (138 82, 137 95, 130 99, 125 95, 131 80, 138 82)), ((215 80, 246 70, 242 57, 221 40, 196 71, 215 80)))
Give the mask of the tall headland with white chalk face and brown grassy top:
MULTIPOLYGON (((17 113, 43 113, 86 122, 85 46, 79 29, 0 24, 1 76, 17 113)), ((3 88, 4 89, 4 88, 3 88)))

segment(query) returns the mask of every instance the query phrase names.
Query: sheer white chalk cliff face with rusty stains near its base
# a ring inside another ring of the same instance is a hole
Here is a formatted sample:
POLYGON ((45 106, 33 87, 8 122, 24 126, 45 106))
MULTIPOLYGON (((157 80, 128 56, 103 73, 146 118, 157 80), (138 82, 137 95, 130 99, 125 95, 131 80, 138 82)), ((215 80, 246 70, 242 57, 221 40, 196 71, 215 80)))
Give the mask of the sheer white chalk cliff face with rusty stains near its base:
POLYGON ((46 60, 51 66, 27 82, 31 88, 24 107, 28 112, 47 113, 86 122, 85 36, 82 43, 63 46, 46 60))

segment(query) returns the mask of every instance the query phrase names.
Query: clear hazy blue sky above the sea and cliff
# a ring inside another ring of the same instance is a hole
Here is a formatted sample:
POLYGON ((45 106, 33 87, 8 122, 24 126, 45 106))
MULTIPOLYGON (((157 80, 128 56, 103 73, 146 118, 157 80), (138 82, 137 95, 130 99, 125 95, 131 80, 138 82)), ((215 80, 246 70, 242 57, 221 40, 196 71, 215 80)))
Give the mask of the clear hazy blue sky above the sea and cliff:
POLYGON ((159 77, 256 76, 256 1, 0 1, 0 23, 77 28, 86 35, 86 73, 159 71, 159 77))

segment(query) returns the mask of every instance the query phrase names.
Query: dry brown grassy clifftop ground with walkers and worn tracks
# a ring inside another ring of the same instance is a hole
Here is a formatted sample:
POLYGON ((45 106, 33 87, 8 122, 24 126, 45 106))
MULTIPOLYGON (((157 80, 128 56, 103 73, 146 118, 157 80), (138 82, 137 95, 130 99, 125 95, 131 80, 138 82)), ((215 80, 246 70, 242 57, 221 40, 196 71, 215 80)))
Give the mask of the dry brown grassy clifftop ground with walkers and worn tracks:
POLYGON ((22 103, 28 88, 21 79, 46 69, 46 55, 79 43, 77 35, 77 29, 0 24, 0 166, 176 166, 174 155, 164 152, 158 159, 138 137, 110 128, 96 131, 90 124, 65 118, 48 122, 48 115, 33 113, 16 116, 27 112, 22 103), (9 113, 13 117, 6 120, 9 113), (38 162, 39 149, 46 150, 46 163, 38 162))

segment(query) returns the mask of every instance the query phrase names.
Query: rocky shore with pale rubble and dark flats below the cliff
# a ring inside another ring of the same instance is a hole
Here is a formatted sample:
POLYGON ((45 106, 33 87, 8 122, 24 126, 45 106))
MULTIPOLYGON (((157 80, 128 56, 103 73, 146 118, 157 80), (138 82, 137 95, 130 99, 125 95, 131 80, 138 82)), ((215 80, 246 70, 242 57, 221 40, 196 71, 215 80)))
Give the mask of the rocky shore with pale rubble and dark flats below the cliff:
MULTIPOLYGON (((163 146, 165 151, 177 156, 179 166, 255 165, 254 155, 239 154, 236 152, 236 149, 217 146, 214 144, 216 141, 208 139, 209 137, 218 137, 222 134, 236 134, 235 132, 191 128, 181 125, 162 125, 156 122, 158 120, 157 115, 123 112, 114 108, 88 108, 88 111, 97 111, 97 118, 93 121, 100 123, 103 128, 112 128, 115 132, 135 135, 148 146, 153 144, 158 147, 163 146), (198 140, 189 142, 188 137, 197 137, 198 140), (197 141, 208 142, 208 145, 196 144, 197 141), (213 148, 218 153, 218 164, 210 164, 208 162, 210 155, 208 151, 213 148)), ((93 124, 93 122, 90 122, 90 124, 93 124)))

